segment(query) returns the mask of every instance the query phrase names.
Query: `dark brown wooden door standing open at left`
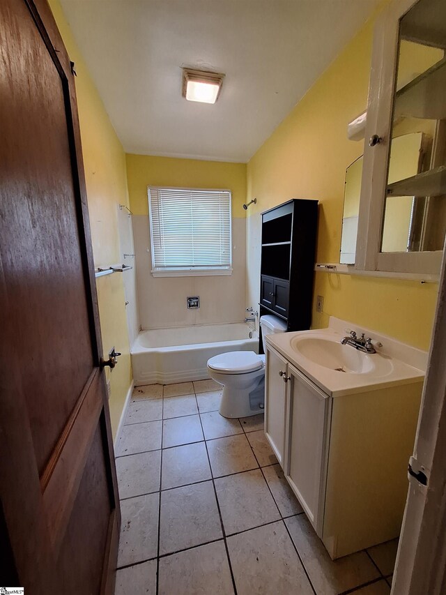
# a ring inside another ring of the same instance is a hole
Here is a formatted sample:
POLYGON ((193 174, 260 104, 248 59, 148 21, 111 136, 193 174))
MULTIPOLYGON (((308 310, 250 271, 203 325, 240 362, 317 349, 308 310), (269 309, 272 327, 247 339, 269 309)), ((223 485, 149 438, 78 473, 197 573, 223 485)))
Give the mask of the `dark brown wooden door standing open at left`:
POLYGON ((75 86, 44 0, 0 3, 1 584, 112 593, 120 513, 75 86))

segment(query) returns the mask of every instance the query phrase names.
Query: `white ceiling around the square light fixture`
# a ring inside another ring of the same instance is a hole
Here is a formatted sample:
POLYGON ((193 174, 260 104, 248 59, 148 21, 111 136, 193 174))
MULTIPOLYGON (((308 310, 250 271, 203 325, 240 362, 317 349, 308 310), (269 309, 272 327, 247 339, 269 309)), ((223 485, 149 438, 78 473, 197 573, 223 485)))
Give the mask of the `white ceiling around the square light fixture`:
POLYGON ((378 0, 61 0, 127 153, 246 162, 378 0), (225 73, 215 105, 181 66, 225 73))

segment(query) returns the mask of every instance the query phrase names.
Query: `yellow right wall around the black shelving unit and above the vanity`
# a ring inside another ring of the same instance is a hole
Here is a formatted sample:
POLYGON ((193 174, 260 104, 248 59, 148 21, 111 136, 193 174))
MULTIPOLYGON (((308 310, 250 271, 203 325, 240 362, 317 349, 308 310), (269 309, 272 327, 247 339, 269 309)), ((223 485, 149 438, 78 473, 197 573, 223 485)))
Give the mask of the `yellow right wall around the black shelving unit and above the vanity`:
MULTIPOLYGON (((247 199, 256 197, 257 204, 247 213, 248 236, 255 213, 290 198, 318 199, 317 260, 339 262, 346 167, 363 152, 362 142, 347 139, 346 127, 367 107, 372 21, 249 161, 247 199)), ((248 250, 247 271, 258 269, 258 257, 248 250)), ((256 291, 248 280, 248 302, 256 291)), ((436 284, 316 273, 314 298, 323 295, 325 302, 322 315, 314 308, 313 326, 327 326, 334 315, 427 349, 437 291, 436 284)))

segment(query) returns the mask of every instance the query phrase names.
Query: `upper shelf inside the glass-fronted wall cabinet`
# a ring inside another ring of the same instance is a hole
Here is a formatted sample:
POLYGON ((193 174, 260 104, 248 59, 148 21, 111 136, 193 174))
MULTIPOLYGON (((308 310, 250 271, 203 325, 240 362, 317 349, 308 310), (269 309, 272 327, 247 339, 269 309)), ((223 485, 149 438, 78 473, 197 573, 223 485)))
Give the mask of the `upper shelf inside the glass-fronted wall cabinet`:
POLYGON ((446 57, 397 91, 394 118, 446 118, 446 57))

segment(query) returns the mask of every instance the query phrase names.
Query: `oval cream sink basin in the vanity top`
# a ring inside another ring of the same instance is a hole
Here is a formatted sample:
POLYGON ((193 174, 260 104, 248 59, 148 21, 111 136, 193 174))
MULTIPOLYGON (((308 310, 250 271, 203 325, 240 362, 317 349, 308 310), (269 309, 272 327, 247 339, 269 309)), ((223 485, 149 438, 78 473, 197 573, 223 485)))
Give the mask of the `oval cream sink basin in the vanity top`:
POLYGON ((295 337, 291 347, 318 366, 346 374, 385 375, 392 364, 380 354, 367 354, 351 345, 341 345, 339 340, 321 337, 295 337))

